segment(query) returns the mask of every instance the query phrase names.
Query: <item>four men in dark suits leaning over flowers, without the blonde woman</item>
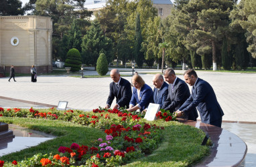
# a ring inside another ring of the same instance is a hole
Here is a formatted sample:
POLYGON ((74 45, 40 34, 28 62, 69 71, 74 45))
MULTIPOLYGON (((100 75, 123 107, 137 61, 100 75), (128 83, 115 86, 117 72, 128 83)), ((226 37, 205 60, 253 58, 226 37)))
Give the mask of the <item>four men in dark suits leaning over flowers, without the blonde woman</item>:
MULTIPOLYGON (((113 100, 116 98, 117 103, 113 108, 129 107, 131 100, 131 83, 120 76, 118 69, 111 70, 110 93, 105 108, 110 108, 113 100)), ((153 103, 159 104, 160 108, 176 112, 177 117, 187 118, 196 121, 198 112, 201 121, 221 127, 222 116, 224 115, 214 90, 210 84, 203 79, 198 78, 194 69, 188 69, 184 73, 184 79, 176 77, 174 69, 168 68, 163 75, 157 73, 153 77, 153 103), (166 83, 164 81, 169 83, 166 83), (192 88, 192 94, 188 88, 188 83, 192 88)))

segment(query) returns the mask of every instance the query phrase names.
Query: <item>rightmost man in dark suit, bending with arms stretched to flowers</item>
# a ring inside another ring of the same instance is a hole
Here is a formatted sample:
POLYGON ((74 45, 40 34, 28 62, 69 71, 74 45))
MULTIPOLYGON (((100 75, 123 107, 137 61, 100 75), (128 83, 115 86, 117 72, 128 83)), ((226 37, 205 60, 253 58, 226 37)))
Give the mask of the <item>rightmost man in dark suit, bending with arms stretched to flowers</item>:
POLYGON ((192 94, 179 108, 177 117, 188 114, 191 108, 196 107, 200 113, 201 121, 206 124, 221 128, 222 116, 224 115, 212 86, 203 79, 200 79, 194 69, 188 69, 184 73, 186 83, 192 88, 192 94))

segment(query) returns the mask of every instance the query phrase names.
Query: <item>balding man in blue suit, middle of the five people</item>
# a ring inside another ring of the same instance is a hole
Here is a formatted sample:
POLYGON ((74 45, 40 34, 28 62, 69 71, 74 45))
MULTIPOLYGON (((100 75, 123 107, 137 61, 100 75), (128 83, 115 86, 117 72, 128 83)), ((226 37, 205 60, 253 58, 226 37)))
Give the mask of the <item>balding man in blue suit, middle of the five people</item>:
POLYGON ((153 76, 153 103, 160 104, 160 108, 168 96, 168 84, 164 81, 163 75, 157 73, 153 76))

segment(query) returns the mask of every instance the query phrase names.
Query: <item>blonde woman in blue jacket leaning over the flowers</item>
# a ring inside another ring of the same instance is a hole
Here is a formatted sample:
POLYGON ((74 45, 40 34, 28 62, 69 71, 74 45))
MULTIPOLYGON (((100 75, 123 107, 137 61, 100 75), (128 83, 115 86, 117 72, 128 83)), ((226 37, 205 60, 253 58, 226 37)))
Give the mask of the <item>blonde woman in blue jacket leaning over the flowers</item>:
POLYGON ((149 103, 153 103, 153 91, 145 84, 145 81, 139 75, 133 75, 131 78, 133 83, 133 96, 129 105, 128 112, 133 112, 138 109, 142 112, 149 106, 149 103))

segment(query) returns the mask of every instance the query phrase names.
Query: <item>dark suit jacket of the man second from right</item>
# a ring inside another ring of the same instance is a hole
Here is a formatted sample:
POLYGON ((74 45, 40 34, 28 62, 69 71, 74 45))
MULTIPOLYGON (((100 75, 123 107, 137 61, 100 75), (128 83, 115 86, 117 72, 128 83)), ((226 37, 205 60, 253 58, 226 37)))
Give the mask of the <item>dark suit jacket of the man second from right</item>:
MULTIPOLYGON (((164 102, 163 109, 170 110, 170 112, 177 111, 184 102, 190 97, 190 90, 188 88, 187 83, 182 79, 176 79, 174 83, 174 92, 172 92, 172 84, 169 84, 168 88, 168 98, 164 102)), ((196 111, 196 107, 190 108, 191 112, 185 113, 188 117, 188 120, 196 120, 198 118, 198 114, 196 111)))

